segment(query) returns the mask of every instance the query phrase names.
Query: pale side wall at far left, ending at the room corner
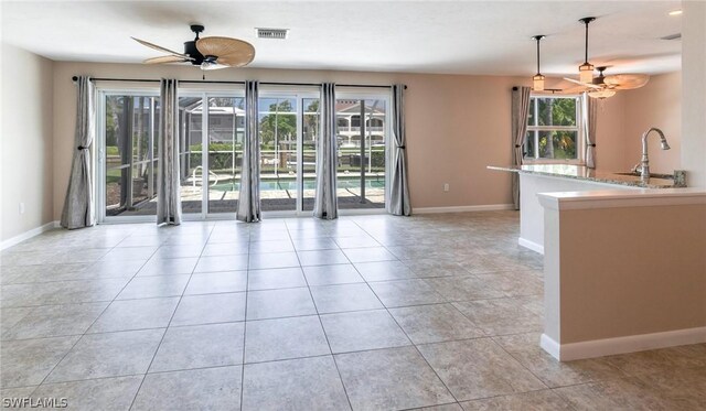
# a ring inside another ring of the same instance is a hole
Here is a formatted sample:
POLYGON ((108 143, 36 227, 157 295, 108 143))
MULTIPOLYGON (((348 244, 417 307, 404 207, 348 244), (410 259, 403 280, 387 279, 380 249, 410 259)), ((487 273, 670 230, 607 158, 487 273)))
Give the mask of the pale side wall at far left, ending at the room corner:
POLYGON ((3 241, 54 219, 52 69, 50 60, 2 43, 3 241))

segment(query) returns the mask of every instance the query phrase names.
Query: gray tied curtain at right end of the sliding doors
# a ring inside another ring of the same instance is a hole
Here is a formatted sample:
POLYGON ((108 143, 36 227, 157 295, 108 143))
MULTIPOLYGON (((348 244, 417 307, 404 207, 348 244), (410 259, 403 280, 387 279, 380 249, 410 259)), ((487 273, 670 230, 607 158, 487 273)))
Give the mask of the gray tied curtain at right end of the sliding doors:
POLYGON ((407 184, 407 150, 405 142, 405 109, 403 90, 405 86, 393 86, 393 163, 391 175, 389 202, 387 213, 396 216, 411 215, 409 185, 407 184))

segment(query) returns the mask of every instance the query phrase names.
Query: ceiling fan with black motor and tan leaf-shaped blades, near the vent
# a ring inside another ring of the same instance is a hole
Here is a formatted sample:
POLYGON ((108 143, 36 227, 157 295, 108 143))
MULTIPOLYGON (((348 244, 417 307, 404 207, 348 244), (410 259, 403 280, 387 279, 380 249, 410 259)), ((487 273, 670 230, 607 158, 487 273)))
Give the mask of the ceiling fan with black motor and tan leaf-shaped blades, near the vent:
POLYGON ((168 55, 146 60, 145 64, 191 63, 201 69, 216 69, 225 67, 243 67, 255 57, 255 47, 248 42, 231 37, 199 37, 204 26, 192 24, 191 31, 196 33, 196 39, 184 42, 184 52, 178 53, 167 47, 146 42, 145 40, 130 37, 136 42, 164 52, 168 55))

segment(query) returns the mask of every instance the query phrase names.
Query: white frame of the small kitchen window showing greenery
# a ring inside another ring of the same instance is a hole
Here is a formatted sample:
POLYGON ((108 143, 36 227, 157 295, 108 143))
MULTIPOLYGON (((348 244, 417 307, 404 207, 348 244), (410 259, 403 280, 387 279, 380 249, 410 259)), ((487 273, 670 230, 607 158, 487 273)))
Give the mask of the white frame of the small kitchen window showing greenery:
MULTIPOLYGON (((586 137, 584 136, 584 128, 581 127, 582 123, 582 112, 584 110, 581 109, 581 105, 584 104, 584 97, 580 94, 570 94, 570 95, 547 95, 547 94, 535 94, 532 93, 530 95, 530 101, 532 102, 532 99, 535 99, 535 104, 534 104, 534 119, 535 122, 538 122, 538 104, 536 102, 536 99, 546 99, 546 98, 554 98, 554 99, 566 99, 566 98, 571 98, 571 99, 576 99, 576 126, 531 126, 530 123, 527 123, 527 130, 525 132, 525 139, 523 141, 523 156, 522 156, 522 162, 525 164, 575 164, 575 165, 585 165, 585 159, 584 159, 584 143, 585 143, 585 139, 586 137), (542 131, 576 131, 576 159, 544 159, 544 158, 539 158, 539 132, 542 131), (533 153, 532 156, 527 156, 526 154, 526 150, 527 150, 527 140, 528 137, 526 136, 530 132, 534 132, 534 148, 535 148, 535 152, 533 153)), ((531 104, 532 106, 532 104, 531 104)), ((527 116, 527 119, 530 118, 530 116, 527 116)))

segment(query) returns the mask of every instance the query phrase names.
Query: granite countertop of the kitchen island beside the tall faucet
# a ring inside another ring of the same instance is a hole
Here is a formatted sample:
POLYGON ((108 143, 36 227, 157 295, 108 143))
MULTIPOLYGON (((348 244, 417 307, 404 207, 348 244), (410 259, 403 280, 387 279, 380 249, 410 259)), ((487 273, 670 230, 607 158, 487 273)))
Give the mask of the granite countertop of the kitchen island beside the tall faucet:
POLYGON ((642 181, 640 175, 625 175, 623 173, 596 171, 585 165, 573 164, 525 164, 520 167, 515 165, 495 166, 489 165, 490 170, 510 171, 513 173, 538 174, 553 177, 565 177, 574 180, 590 181, 596 183, 627 185, 640 188, 675 188, 685 187, 685 184, 674 184, 673 175, 652 174, 648 181, 642 181))

